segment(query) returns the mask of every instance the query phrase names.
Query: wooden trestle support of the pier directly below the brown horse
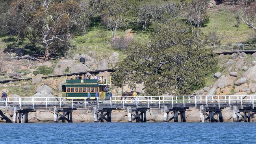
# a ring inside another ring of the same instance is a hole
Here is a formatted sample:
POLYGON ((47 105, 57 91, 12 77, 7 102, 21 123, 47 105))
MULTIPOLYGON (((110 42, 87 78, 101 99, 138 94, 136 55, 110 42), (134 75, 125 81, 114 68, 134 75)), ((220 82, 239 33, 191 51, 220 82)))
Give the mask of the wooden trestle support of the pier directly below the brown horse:
POLYGON ((128 122, 132 122, 133 120, 136 120, 136 122, 147 122, 147 110, 147 108, 132 109, 131 107, 127 107, 128 122))

